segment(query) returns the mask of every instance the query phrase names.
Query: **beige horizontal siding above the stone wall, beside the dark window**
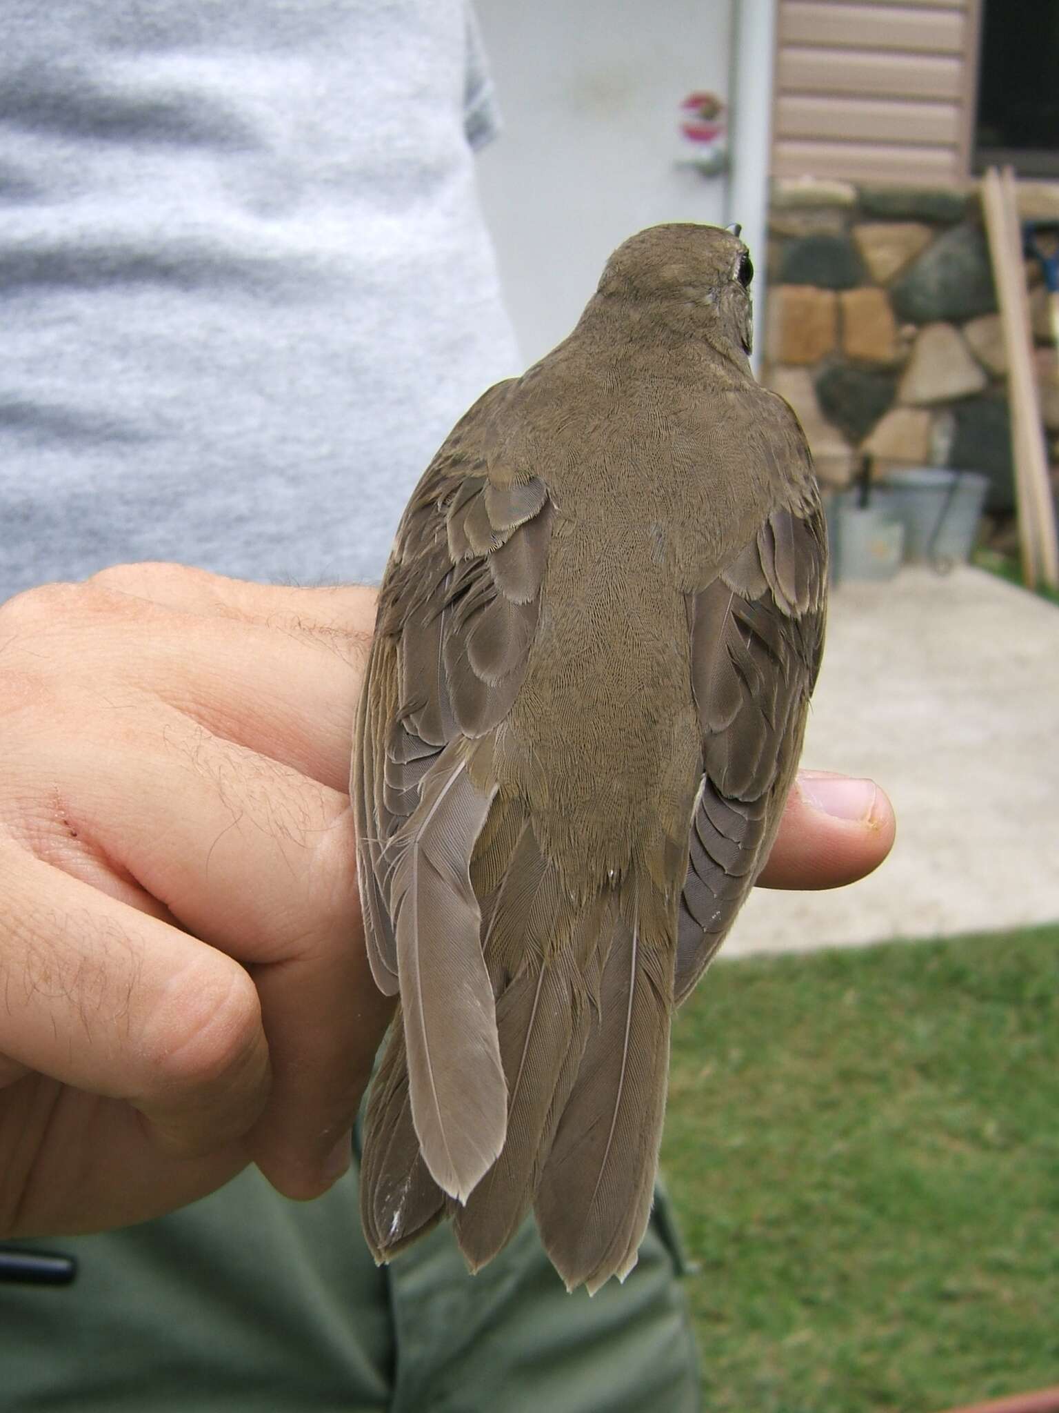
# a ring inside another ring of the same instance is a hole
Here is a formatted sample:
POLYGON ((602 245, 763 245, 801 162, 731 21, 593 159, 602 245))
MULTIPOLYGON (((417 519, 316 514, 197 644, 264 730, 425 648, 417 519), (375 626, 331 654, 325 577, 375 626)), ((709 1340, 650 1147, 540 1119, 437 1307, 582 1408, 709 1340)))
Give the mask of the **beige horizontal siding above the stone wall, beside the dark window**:
POLYGON ((778 0, 774 174, 962 179, 977 6, 778 0))

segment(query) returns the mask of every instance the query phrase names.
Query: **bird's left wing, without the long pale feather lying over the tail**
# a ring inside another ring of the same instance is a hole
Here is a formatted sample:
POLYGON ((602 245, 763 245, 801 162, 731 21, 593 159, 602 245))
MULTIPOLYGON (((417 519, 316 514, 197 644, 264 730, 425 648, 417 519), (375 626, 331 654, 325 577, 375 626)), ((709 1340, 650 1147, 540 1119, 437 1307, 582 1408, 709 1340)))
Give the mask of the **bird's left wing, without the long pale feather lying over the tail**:
POLYGON ((503 463, 493 435, 511 386, 491 387, 428 466, 380 588, 352 791, 369 957, 387 995, 397 951, 385 851, 443 749, 504 719, 537 627, 552 506, 538 476, 503 463))

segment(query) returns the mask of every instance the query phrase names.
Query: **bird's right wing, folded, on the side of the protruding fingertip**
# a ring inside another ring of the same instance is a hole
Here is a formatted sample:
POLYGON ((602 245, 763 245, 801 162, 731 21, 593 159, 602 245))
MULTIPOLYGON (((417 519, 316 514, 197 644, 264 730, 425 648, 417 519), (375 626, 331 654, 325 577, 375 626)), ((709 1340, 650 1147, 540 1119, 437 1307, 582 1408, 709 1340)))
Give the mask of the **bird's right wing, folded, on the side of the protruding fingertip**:
POLYGON ((679 909, 678 1003, 768 859, 820 666, 826 588, 826 527, 808 482, 712 584, 688 595, 703 777, 679 909))

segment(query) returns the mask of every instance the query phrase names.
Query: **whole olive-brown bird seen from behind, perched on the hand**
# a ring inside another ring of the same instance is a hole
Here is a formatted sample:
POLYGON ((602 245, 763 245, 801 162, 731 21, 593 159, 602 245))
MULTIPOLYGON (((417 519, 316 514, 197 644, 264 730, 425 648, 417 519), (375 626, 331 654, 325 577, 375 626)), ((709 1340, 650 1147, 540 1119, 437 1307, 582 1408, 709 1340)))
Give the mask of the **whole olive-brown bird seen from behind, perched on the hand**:
POLYGON ((568 1290, 635 1265, 672 1016, 768 859, 823 649, 820 493, 750 367, 751 278, 738 226, 631 236, 401 519, 350 781, 397 996, 378 1263, 448 1218, 479 1270, 532 1211, 568 1290))

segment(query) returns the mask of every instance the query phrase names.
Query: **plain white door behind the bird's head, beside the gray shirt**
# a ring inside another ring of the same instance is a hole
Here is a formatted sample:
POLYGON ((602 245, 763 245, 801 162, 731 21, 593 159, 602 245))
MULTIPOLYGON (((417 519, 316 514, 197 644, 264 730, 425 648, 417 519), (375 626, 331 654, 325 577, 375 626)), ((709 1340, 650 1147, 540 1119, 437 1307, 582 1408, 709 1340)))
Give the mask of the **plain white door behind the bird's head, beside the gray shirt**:
MULTIPOLYGON (((504 131, 479 155, 527 360, 565 338, 614 246, 723 222, 726 181, 681 168, 682 99, 727 96, 731 0, 476 0, 504 131)), ((767 100, 767 99, 765 99, 767 100)))

